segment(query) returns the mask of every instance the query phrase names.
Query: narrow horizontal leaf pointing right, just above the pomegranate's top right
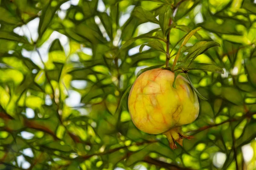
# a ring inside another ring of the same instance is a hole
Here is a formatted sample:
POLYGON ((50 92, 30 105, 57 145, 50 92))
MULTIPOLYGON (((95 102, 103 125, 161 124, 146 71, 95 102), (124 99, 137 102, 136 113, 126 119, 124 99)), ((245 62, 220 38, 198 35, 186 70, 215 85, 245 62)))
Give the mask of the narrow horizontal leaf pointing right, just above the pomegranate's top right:
POLYGON ((215 72, 219 74, 224 74, 224 71, 222 68, 220 68, 217 65, 213 64, 206 64, 206 63, 192 63, 189 65, 189 70, 202 70, 202 71, 209 71, 209 72, 215 72))

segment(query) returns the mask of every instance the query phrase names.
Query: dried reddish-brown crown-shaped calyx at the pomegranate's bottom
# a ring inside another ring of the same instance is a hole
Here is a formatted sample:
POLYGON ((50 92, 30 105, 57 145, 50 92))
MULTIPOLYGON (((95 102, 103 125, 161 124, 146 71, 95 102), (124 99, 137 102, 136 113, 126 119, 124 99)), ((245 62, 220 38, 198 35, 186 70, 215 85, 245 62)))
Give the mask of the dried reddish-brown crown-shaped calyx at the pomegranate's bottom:
POLYGON ((183 146, 184 138, 185 139, 193 139, 194 138, 193 136, 189 136, 189 135, 186 135, 185 133, 183 133, 183 131, 181 130, 181 127, 172 128, 163 134, 167 137, 167 139, 169 141, 169 145, 172 150, 177 148, 177 145, 175 144, 175 142, 180 144, 180 146, 183 146))

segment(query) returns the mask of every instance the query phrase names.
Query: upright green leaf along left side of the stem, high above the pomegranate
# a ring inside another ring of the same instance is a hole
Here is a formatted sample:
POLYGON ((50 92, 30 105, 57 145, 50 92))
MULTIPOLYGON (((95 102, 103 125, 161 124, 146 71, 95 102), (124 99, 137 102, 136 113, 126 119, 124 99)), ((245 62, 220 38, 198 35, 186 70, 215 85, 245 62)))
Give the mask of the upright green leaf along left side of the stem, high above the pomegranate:
POLYGON ((167 29, 169 28, 171 13, 172 10, 170 6, 163 6, 159 13, 159 25, 164 35, 166 34, 167 29))

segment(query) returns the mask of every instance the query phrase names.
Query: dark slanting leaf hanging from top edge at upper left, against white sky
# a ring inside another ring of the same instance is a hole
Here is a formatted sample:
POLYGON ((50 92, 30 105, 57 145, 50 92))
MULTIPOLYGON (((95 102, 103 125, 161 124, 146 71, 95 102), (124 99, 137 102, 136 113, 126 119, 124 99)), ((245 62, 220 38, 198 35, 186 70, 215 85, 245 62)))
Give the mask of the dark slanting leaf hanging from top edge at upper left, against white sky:
POLYGON ((43 9, 41 17, 40 17, 40 22, 39 22, 39 27, 38 27, 39 37, 42 37, 44 32, 47 30, 49 24, 51 23, 54 15, 55 15, 55 12, 60 8, 61 4, 63 4, 66 1, 68 1, 68 0, 61 0, 58 3, 58 5, 55 7, 52 7, 51 6, 52 1, 49 1, 47 7, 43 9))

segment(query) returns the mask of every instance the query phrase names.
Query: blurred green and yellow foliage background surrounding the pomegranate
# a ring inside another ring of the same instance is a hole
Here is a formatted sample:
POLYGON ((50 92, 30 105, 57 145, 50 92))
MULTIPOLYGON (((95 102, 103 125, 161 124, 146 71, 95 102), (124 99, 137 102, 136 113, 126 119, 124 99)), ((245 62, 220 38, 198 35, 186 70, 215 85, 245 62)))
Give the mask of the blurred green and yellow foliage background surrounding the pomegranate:
POLYGON ((255 38, 253 0, 0 0, 0 169, 255 169, 255 38), (176 150, 133 125, 126 95, 165 64, 166 35, 170 65, 183 46, 224 69, 186 68, 208 100, 176 150))

